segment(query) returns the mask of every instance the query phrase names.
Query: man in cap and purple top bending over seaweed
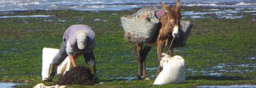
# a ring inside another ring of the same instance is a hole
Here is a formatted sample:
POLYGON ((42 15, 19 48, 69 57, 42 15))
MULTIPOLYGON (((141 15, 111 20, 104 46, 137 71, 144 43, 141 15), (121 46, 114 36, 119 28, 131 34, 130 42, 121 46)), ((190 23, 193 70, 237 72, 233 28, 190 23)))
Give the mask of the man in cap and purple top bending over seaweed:
POLYGON ((50 64, 49 76, 44 81, 52 81, 58 65, 66 57, 69 57, 72 65, 76 67, 75 61, 80 55, 84 55, 84 61, 90 67, 90 72, 92 75, 96 75, 96 64, 93 54, 95 45, 95 34, 91 27, 87 25, 72 25, 68 27, 63 35, 60 51, 50 64))

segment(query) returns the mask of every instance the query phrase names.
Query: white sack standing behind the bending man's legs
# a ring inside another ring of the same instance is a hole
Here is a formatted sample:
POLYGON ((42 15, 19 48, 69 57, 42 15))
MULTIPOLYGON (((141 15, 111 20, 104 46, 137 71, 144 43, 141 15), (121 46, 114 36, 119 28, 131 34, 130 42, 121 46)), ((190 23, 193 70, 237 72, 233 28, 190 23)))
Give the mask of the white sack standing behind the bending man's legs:
MULTIPOLYGON (((46 48, 43 49, 42 55, 42 80, 48 78, 50 63, 54 60, 54 57, 58 54, 59 49, 46 48)), ((66 57, 66 59, 58 65, 56 75, 64 75, 66 71, 71 69, 72 65, 70 59, 66 57)))

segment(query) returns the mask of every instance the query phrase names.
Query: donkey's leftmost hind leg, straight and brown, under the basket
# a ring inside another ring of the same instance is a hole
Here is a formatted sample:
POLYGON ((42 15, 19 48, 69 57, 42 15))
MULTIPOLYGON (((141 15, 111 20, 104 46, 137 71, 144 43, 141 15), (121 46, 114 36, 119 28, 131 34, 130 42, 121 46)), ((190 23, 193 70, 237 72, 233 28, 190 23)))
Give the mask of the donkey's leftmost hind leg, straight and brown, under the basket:
POLYGON ((136 48, 137 48, 137 53, 138 53, 138 73, 137 73, 137 77, 138 79, 141 79, 141 75, 142 75, 142 52, 143 52, 143 45, 140 43, 136 43, 136 48))

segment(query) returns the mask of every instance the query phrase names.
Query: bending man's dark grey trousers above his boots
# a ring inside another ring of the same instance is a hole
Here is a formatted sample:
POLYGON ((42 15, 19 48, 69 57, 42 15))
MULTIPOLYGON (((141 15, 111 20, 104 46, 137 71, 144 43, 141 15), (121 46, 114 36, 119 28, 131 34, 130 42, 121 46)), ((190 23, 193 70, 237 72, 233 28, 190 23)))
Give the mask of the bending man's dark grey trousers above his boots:
MULTIPOLYGON (((95 57, 94 57, 93 51, 91 51, 90 53, 84 53, 83 55, 84 55, 84 61, 87 64, 94 64, 95 63, 95 57)), ((54 57, 54 61, 52 61, 52 63, 54 65, 60 65, 60 63, 62 63, 66 59, 66 57, 68 57, 68 54, 66 53, 66 42, 63 41, 62 45, 60 47, 60 51, 54 57)))

